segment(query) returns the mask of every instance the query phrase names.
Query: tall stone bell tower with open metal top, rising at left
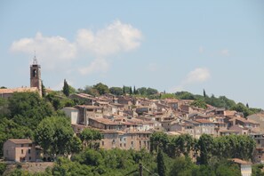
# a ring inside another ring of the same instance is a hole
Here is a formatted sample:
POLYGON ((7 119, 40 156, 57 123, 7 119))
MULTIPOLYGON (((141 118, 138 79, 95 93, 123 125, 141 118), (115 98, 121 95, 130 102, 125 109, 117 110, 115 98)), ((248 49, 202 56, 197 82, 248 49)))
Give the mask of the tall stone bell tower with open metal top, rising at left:
POLYGON ((36 87, 40 96, 42 95, 40 65, 37 65, 36 55, 33 64, 30 66, 30 87, 36 87))

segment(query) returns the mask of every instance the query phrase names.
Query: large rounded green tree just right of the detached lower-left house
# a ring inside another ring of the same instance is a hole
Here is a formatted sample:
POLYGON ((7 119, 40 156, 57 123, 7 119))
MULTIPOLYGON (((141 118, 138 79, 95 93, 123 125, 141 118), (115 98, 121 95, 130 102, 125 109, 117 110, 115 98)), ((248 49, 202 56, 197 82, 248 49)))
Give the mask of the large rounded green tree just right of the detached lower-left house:
POLYGON ((74 132, 68 117, 52 116, 37 125, 35 140, 44 148, 44 153, 52 156, 68 155, 74 132))

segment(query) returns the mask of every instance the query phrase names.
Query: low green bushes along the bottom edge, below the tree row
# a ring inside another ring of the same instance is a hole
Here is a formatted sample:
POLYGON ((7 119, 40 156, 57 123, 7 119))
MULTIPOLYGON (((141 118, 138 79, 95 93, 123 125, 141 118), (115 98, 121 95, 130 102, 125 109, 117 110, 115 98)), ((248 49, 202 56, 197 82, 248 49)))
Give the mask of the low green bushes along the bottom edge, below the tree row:
MULTIPOLYGON (((58 157, 53 168, 45 172, 30 174, 20 169, 14 170, 11 175, 139 175, 139 164, 143 165, 143 175, 169 175, 169 176, 240 176, 238 164, 218 157, 210 158, 208 164, 194 164, 188 156, 169 157, 161 153, 148 153, 144 149, 133 150, 102 150, 86 148, 71 159, 58 157), (163 163, 164 165, 158 165, 163 163), (161 169, 163 167, 164 169, 161 169), (164 172, 160 172, 164 171, 164 172)), ((260 169, 262 164, 253 166, 252 176, 264 175, 260 169)))

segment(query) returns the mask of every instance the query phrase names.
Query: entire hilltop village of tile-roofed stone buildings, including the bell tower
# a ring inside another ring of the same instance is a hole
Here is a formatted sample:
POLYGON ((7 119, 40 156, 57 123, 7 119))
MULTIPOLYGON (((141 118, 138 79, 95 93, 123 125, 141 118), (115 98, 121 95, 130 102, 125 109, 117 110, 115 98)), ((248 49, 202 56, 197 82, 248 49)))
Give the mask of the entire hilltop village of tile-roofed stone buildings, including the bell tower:
MULTIPOLYGON (((36 92, 39 97, 45 96, 48 97, 47 99, 52 99, 53 96, 53 98, 63 100, 64 98, 60 96, 60 93, 54 95, 52 90, 44 89, 40 68, 35 58, 30 66, 30 87, 0 89, 0 97, 3 100, 10 100, 13 94, 17 92, 36 92)), ((140 93, 135 93, 135 88, 132 91, 131 87, 129 92, 116 94, 101 92, 97 96, 81 91, 70 93, 68 89, 69 85, 65 80, 62 92, 68 100, 75 103, 55 106, 56 102, 51 100, 53 107, 57 108, 56 110, 60 111, 65 119, 68 116, 75 136, 82 139, 82 132, 85 129, 100 132, 100 138, 96 139, 97 146, 92 146, 92 148, 107 150, 120 148, 135 151, 144 149, 152 152, 159 145, 155 146, 154 140, 151 141, 151 136, 158 132, 169 138, 188 135, 194 141, 199 140, 204 134, 212 138, 242 135, 249 136, 256 145, 251 150, 252 154, 249 154, 252 155, 251 158, 244 156, 250 161, 241 160, 243 158, 233 160, 235 163, 240 164, 241 171, 251 173, 252 163, 261 164, 264 162, 263 112, 244 116, 247 114, 236 110, 228 110, 227 108, 213 107, 206 103, 201 106, 199 100, 181 100, 173 97, 161 98, 166 94, 164 92, 154 92, 154 98, 149 99, 149 97, 140 96, 140 93)), ((205 93, 204 96, 206 96, 205 93)), ((37 137, 35 139, 37 140, 37 137)), ((41 148, 36 144, 37 142, 33 139, 8 139, 3 146, 4 160, 15 162, 52 161, 54 156, 44 154, 43 150, 45 148, 41 148)), ((38 144, 40 143, 38 142, 38 144)), ((85 145, 87 146, 87 143, 85 145)), ((168 148, 166 147, 166 149, 168 148)), ((187 155, 196 161, 199 153, 201 156, 203 155, 202 149, 198 149, 200 152, 196 155, 194 154, 195 150, 190 148, 187 153, 182 152, 182 155, 187 155)), ((240 154, 237 156, 240 156, 240 154)))

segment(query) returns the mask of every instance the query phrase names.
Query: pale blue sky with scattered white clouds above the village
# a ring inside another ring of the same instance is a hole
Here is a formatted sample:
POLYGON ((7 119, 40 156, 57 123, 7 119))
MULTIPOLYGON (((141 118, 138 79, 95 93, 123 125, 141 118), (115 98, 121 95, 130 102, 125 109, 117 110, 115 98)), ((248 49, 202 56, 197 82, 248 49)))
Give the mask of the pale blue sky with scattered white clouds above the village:
POLYGON ((0 86, 135 85, 264 108, 264 1, 0 2, 0 86))

